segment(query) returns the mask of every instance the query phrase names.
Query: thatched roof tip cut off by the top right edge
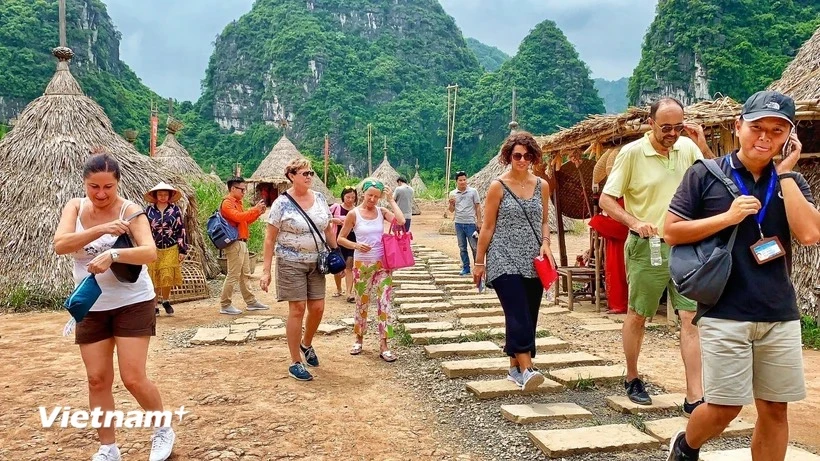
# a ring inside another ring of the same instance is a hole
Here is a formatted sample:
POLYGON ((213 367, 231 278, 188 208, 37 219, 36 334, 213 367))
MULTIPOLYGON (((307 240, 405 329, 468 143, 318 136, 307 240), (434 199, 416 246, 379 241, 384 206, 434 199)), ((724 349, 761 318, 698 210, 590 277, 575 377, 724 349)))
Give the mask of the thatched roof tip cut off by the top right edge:
POLYGON ((820 28, 803 44, 783 71, 780 80, 769 86, 795 101, 820 98, 820 28))

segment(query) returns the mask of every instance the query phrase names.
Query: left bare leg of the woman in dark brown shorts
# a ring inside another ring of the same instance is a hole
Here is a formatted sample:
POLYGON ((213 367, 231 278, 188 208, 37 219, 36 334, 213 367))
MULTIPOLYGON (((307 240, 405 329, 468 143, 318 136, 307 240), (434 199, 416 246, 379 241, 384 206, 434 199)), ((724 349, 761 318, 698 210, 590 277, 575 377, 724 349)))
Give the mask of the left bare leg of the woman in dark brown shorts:
MULTIPOLYGON (((88 405, 92 410, 114 411, 114 394, 111 392, 114 385, 114 338, 80 344, 80 355, 88 377, 88 405)), ((97 436, 101 445, 116 441, 113 427, 97 429, 97 436)))

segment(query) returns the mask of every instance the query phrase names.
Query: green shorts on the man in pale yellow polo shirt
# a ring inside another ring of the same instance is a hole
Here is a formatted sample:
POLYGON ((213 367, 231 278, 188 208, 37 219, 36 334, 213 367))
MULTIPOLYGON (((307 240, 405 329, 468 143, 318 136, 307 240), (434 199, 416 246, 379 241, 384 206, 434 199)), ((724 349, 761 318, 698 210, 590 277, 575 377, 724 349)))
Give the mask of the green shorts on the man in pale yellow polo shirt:
POLYGON ((624 245, 626 258, 626 280, 629 284, 629 308, 643 317, 654 317, 663 296, 672 307, 680 311, 695 312, 697 303, 678 293, 669 275, 669 245, 661 243, 663 263, 653 266, 650 262, 649 239, 629 234, 624 245))

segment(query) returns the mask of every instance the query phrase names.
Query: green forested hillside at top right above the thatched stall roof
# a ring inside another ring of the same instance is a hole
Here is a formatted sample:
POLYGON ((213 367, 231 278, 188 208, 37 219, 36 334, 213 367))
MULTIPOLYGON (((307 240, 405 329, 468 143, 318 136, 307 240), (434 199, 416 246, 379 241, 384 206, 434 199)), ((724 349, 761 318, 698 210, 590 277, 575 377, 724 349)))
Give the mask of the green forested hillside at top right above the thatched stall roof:
POLYGON ((818 26, 817 0, 661 0, 629 100, 674 94, 691 101, 716 93, 743 100, 780 78, 818 26), (696 64, 707 88, 695 84, 696 64))

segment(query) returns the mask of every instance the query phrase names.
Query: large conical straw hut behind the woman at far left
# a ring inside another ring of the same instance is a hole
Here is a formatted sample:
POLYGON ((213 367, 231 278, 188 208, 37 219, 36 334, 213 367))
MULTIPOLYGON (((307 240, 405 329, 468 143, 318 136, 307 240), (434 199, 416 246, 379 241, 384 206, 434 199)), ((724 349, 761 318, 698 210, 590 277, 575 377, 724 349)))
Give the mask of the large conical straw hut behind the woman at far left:
MULTIPOLYGON (((30 304, 53 305, 73 288, 71 258, 57 256, 52 239, 60 209, 84 196, 82 170, 95 146, 120 162, 119 193, 135 203, 143 203, 143 193, 160 181, 177 185, 193 246, 200 251, 204 246, 191 187, 114 132, 102 108, 71 75, 69 48, 55 48, 53 54, 59 62, 45 93, 26 106, 0 141, 0 203, 7 207, 0 213, 2 300, 22 293, 30 304)), ((204 274, 202 279, 204 286, 204 274)))

